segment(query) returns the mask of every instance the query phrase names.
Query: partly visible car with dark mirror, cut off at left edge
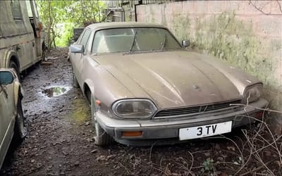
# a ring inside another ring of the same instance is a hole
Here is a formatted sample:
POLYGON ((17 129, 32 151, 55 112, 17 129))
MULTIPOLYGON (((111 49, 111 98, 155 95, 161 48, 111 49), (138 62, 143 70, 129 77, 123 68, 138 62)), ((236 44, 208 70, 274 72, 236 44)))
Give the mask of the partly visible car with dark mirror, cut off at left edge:
POLYGON ((0 168, 12 138, 19 142, 27 133, 22 98, 23 92, 16 72, 0 68, 0 168))

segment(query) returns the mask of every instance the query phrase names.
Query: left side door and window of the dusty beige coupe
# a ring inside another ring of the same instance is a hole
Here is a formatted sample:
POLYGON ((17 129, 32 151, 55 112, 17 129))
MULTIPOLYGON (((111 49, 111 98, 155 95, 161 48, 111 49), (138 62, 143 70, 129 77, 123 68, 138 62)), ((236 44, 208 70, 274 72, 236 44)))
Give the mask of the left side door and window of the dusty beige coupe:
POLYGON ((73 59, 71 61, 73 63, 73 71, 80 85, 82 84, 83 57, 87 54, 87 44, 90 39, 90 34, 91 30, 86 28, 85 32, 82 33, 82 37, 78 41, 79 45, 83 45, 85 51, 83 54, 73 54, 73 59))

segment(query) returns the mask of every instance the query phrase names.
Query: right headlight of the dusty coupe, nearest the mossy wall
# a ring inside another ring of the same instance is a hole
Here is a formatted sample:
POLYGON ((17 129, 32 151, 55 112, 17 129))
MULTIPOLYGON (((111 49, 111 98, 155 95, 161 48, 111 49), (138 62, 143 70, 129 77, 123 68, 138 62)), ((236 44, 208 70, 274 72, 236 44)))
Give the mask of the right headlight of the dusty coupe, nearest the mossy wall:
POLYGON ((256 84, 255 86, 247 87, 243 94, 244 103, 251 103, 257 101, 262 94, 262 84, 256 84))

